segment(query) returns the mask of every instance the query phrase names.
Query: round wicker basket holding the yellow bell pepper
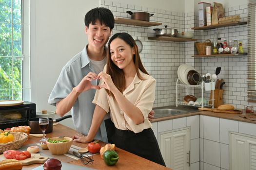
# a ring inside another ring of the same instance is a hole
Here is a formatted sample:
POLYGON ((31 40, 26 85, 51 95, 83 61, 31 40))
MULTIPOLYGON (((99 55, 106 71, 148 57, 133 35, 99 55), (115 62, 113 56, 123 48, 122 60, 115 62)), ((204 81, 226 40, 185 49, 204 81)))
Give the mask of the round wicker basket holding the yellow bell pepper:
POLYGON ((16 150, 20 149, 24 142, 28 139, 26 133, 21 132, 10 132, 14 136, 14 141, 8 143, 0 143, 0 153, 3 153, 7 150, 16 150))

